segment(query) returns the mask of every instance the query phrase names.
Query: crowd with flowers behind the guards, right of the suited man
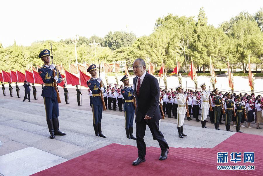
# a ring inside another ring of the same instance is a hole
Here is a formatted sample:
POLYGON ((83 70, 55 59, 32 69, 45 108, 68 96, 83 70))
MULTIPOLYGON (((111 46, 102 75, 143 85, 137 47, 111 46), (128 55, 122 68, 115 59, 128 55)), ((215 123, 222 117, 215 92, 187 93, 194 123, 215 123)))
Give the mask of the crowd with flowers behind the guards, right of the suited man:
MULTIPOLYGON (((190 117, 187 117, 187 120, 193 120, 192 117, 195 119, 196 122, 199 122, 199 115, 202 114, 202 98, 201 98, 201 92, 202 91, 193 91, 191 89, 183 90, 183 94, 185 97, 188 97, 188 111, 190 112, 190 117)), ((214 91, 208 91, 210 95, 210 105, 212 108, 209 110, 208 116, 210 117, 210 123, 215 123, 215 117, 214 117, 214 91)), ((175 118, 177 119, 177 91, 173 89, 164 89, 160 88, 160 96, 162 98, 162 108, 163 112, 168 116, 168 118, 175 118), (172 117, 173 116, 173 117, 172 117)), ((263 123, 263 117, 262 117, 262 109, 263 109, 263 99, 261 95, 255 96, 255 93, 252 94, 236 94, 236 93, 230 93, 230 92, 219 92, 219 96, 222 98, 223 105, 220 110, 219 115, 219 124, 224 124, 222 121, 226 121, 227 113, 223 113, 223 109, 226 112, 228 110, 227 104, 232 102, 232 106, 234 107, 234 111, 237 112, 237 102, 238 98, 240 98, 240 102, 245 108, 245 113, 242 114, 242 118, 240 119, 240 127, 247 127, 252 128, 250 123, 255 122, 257 124, 257 129, 261 129, 259 126, 260 123, 263 123), (227 97, 229 96, 229 97, 227 97), (228 102, 227 100, 231 100, 231 102, 228 102), (247 124, 247 126, 245 125, 247 124)), ((231 114, 231 121, 233 123, 233 126, 236 126, 237 116, 234 115, 234 111, 232 111, 231 114)), ((235 113, 236 114, 236 113, 235 113)), ((165 115, 165 116, 166 116, 165 115)), ((230 119, 227 119, 230 120, 230 119)), ((206 121, 207 122, 207 121, 206 121)))

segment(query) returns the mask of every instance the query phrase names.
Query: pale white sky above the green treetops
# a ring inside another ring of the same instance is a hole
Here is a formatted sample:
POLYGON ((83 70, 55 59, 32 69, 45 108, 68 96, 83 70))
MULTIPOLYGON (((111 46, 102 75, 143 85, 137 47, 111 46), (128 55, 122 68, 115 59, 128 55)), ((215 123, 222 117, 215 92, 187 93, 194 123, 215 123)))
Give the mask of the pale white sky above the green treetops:
POLYGON ((255 14, 262 0, 6 0, 0 1, 0 43, 4 47, 29 46, 35 41, 105 36, 109 31, 133 32, 137 37, 153 32, 159 17, 172 13, 197 17, 204 7, 208 24, 219 27, 242 11, 255 14))

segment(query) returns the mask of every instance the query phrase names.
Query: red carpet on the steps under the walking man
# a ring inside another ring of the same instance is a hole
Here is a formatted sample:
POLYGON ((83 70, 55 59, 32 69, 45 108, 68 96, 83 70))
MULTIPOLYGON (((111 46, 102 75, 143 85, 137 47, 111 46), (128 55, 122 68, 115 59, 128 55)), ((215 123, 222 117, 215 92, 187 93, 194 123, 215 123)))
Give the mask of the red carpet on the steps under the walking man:
POLYGON ((148 147, 146 162, 132 166, 134 146, 110 144, 34 175, 263 175, 263 136, 236 133, 214 148, 174 148, 159 161, 160 148, 148 147), (217 163, 217 152, 229 152, 228 163, 217 163), (255 152, 255 163, 230 162, 231 152, 255 152), (217 170, 217 165, 255 166, 255 170, 217 170))

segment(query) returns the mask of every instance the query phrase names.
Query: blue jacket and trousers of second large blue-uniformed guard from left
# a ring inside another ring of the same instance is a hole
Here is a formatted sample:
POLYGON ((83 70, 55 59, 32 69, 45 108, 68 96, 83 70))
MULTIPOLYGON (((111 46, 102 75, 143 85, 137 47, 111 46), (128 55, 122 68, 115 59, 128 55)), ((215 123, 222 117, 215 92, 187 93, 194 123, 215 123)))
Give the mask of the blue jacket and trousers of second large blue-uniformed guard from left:
MULTIPOLYGON (((92 94, 99 94, 101 93, 100 90, 100 82, 96 81, 95 79, 91 78, 87 81, 87 85, 90 88, 92 94)), ((106 92, 106 88, 104 87, 104 84, 102 83, 102 86, 104 88, 103 93, 106 92)), ((92 108, 92 114, 93 114, 93 124, 101 123, 102 119, 102 101, 101 96, 92 96, 91 97, 91 108, 92 108)))

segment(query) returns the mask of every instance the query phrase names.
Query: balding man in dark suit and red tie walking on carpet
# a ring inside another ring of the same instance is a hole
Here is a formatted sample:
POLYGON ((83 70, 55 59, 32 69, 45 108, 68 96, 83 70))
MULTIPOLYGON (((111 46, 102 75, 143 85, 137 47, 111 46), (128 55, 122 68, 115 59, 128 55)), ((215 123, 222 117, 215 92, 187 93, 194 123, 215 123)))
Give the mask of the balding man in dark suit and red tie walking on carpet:
POLYGON ((146 161, 146 144, 143 140, 146 125, 161 147, 161 156, 159 160, 167 159, 169 146, 159 130, 158 121, 162 119, 160 109, 158 107, 160 99, 160 88, 158 80, 146 72, 145 61, 136 59, 133 62, 133 71, 136 77, 133 79, 134 94, 136 98, 136 143, 139 157, 132 163, 139 165, 146 161))

